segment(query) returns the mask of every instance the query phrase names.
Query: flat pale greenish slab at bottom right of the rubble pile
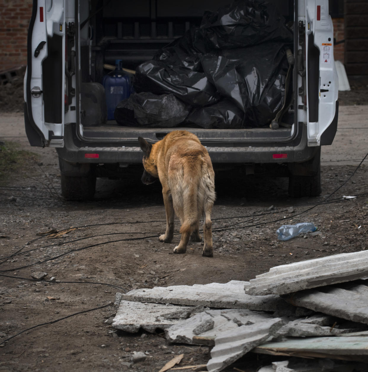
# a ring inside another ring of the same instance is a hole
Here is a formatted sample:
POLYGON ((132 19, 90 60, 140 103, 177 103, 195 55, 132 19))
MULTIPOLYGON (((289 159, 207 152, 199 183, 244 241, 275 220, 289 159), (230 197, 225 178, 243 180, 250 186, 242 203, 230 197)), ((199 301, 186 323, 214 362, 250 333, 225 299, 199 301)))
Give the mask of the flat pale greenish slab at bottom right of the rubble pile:
POLYGON ((255 347, 252 352, 365 361, 368 358, 368 337, 293 337, 283 341, 266 342, 255 347))

